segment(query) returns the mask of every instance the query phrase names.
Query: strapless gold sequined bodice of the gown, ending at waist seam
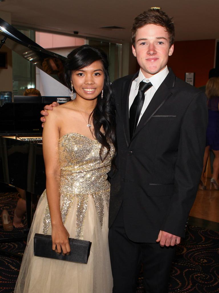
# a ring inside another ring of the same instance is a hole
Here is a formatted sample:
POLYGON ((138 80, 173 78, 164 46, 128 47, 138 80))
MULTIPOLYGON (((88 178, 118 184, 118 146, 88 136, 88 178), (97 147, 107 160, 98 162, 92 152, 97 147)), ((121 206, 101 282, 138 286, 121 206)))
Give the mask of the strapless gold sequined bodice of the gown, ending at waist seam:
POLYGON ((109 188, 106 179, 111 157, 102 162, 100 147, 96 139, 78 133, 68 133, 60 138, 61 194, 96 193, 109 188))

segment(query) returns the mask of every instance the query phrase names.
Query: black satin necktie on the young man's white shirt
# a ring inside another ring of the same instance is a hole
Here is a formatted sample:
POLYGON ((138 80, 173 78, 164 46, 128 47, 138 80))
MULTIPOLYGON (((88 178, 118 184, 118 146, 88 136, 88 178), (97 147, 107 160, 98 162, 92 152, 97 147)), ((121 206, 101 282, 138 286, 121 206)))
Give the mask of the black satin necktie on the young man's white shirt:
POLYGON ((152 84, 141 81, 139 84, 139 89, 137 96, 135 97, 131 108, 129 110, 129 130, 130 138, 132 138, 135 128, 137 127, 138 120, 140 117, 141 109, 145 101, 145 92, 152 87, 152 84))

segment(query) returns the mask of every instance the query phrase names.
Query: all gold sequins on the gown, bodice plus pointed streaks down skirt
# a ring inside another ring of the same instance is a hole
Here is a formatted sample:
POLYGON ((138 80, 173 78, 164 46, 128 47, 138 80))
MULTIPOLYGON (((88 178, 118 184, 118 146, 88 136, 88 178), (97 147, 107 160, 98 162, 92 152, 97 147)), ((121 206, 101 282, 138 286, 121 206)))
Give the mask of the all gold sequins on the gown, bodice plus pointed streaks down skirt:
MULTIPOLYGON (((65 223, 69 209, 77 198, 76 238, 78 239, 83 239, 83 222, 88 196, 93 198, 101 226, 104 202, 109 207, 110 185, 107 181, 107 173, 110 170, 114 149, 111 147, 110 154, 102 161, 99 154, 100 147, 101 144, 96 139, 93 140, 78 133, 67 133, 59 139, 62 221, 65 223)), ((44 234, 47 234, 50 223, 47 206, 44 216, 44 234)))

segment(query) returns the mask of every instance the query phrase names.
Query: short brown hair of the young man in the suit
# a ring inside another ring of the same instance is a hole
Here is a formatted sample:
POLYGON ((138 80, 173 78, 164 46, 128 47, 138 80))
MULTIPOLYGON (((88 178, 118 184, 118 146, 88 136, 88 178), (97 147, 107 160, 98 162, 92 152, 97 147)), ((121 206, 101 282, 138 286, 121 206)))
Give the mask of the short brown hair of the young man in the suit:
POLYGON ((131 41, 133 47, 135 47, 135 36, 137 29, 142 28, 146 24, 156 24, 164 27, 168 32, 170 38, 170 47, 173 45, 175 38, 175 29, 172 18, 170 18, 164 11, 159 8, 150 8, 135 17, 131 29, 131 41))

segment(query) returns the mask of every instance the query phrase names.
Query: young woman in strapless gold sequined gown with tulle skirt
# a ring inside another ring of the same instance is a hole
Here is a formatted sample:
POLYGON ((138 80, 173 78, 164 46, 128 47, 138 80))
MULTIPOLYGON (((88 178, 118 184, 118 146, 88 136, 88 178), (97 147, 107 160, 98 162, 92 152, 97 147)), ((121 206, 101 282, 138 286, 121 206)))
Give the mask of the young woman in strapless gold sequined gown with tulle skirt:
POLYGON ((43 130, 46 190, 29 232, 16 293, 111 293, 108 249, 109 183, 115 120, 104 52, 84 45, 68 55, 72 101, 50 111, 43 130), (69 254, 68 237, 92 242, 87 264, 33 255, 35 233, 69 254))

